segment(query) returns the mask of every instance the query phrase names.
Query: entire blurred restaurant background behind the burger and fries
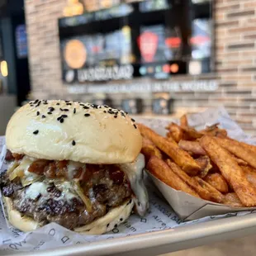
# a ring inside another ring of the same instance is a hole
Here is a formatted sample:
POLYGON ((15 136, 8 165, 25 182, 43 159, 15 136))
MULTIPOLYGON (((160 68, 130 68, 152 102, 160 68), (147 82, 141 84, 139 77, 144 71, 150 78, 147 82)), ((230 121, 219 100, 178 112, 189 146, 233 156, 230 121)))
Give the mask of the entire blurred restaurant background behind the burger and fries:
POLYGON ((225 106, 255 134, 256 2, 0 0, 0 135, 36 98, 181 116, 225 106))

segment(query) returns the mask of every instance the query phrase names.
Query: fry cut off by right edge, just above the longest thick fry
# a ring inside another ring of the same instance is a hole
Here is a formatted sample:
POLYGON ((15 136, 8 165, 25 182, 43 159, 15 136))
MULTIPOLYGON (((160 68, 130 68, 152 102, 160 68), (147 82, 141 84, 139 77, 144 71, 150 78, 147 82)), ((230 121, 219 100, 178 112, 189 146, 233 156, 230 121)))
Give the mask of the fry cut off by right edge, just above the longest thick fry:
POLYGON ((221 147, 227 149, 239 159, 243 159, 249 165, 256 168, 256 154, 254 154, 254 151, 244 147, 244 145, 241 145, 239 141, 236 140, 224 138, 215 138, 215 140, 221 147))

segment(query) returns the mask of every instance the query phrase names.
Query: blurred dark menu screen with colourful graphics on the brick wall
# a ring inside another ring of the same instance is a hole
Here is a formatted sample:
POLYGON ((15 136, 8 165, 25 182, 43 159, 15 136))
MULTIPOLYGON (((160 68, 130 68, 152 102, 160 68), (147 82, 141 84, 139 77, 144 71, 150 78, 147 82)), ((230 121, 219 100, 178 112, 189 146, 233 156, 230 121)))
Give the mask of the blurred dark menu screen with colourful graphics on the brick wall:
POLYGON ((59 20, 65 82, 211 72, 209 1, 84 0, 84 6, 87 13, 59 20))

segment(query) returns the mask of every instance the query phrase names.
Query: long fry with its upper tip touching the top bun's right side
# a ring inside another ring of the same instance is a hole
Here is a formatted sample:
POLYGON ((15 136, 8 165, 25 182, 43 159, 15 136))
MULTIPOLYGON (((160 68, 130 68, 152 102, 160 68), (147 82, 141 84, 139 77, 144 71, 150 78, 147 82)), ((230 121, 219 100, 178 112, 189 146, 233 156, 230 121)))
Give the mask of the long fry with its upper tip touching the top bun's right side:
POLYGON ((140 133, 152 140, 154 144, 164 151, 173 161, 178 164, 183 170, 190 175, 197 175, 201 168, 197 162, 192 159, 191 155, 187 154, 183 149, 180 149, 178 145, 175 145, 171 141, 166 140, 164 137, 156 134, 154 130, 149 129, 146 126, 138 124, 140 133))

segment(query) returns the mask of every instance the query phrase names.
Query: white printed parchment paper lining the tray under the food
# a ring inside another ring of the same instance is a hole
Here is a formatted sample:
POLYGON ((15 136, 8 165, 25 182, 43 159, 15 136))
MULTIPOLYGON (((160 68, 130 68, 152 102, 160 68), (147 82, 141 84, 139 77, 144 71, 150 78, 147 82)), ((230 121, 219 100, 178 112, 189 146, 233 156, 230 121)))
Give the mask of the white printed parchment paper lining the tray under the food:
MULTIPOLYGON (((168 125, 170 120, 140 119, 136 121, 142 122, 159 132, 159 134, 164 135, 164 127, 168 125)), ((193 114, 189 116, 188 121, 191 126, 195 126, 198 129, 201 129, 206 125, 220 122, 221 127, 228 130, 230 137, 256 145, 256 138, 245 135, 243 130, 230 119, 230 116, 223 108, 217 110, 210 109, 203 113, 193 114)), ((0 137, 0 151, 2 150, 3 145, 4 137, 0 137)), ((0 156, 0 168, 1 171, 7 168, 2 156, 0 156)), ((199 220, 182 222, 173 209, 168 206, 168 203, 166 203, 164 198, 159 194, 159 191, 154 187, 154 184, 150 182, 148 178, 145 178, 145 183, 149 190, 149 211, 147 215, 144 218, 132 215, 126 222, 109 232, 107 235, 79 235, 70 230, 66 230, 55 223, 45 225, 39 230, 25 234, 14 229, 10 225, 7 225, 7 220, 0 208, 0 254, 17 254, 21 251, 37 251, 73 244, 87 244, 93 241, 149 233, 155 230, 178 228, 182 225, 197 225, 196 223, 211 221, 217 218, 243 216, 254 213, 254 211, 243 211, 229 213, 223 216, 208 216, 199 220)))

